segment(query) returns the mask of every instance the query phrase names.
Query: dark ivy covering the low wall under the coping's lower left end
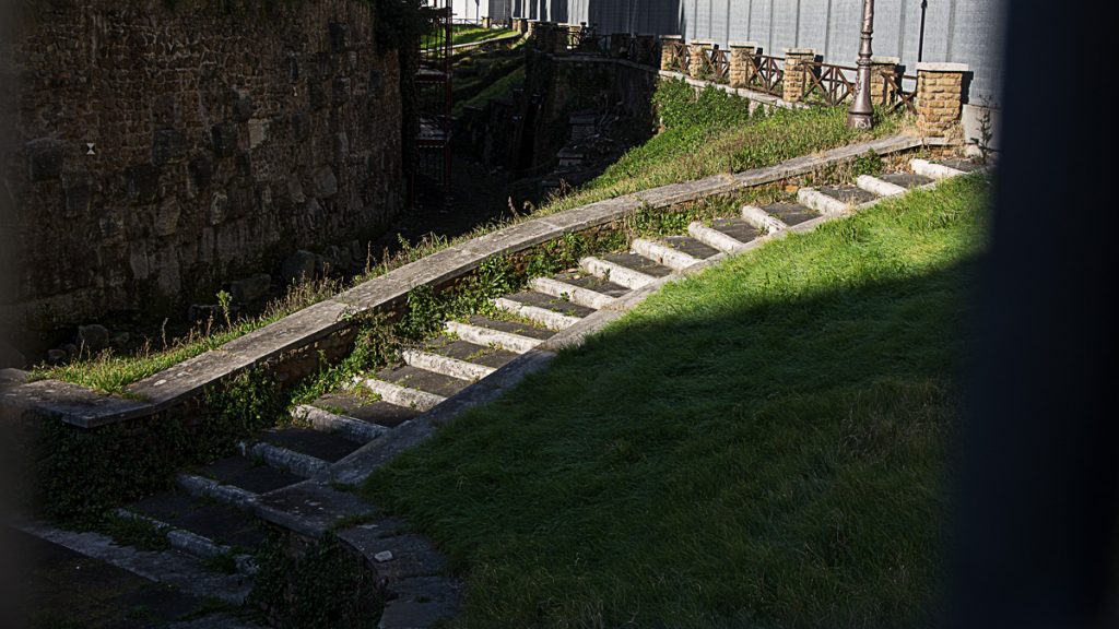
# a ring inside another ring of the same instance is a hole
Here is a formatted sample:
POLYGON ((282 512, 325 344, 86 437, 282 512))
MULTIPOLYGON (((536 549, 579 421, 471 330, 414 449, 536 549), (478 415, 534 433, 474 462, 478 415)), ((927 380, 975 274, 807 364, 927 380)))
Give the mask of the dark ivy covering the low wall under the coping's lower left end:
POLYGON ((274 425, 286 400, 261 370, 207 395, 199 416, 154 416, 95 430, 57 420, 31 426, 36 514, 77 528, 104 527, 109 510, 167 489, 182 468, 232 453, 238 440, 274 425))

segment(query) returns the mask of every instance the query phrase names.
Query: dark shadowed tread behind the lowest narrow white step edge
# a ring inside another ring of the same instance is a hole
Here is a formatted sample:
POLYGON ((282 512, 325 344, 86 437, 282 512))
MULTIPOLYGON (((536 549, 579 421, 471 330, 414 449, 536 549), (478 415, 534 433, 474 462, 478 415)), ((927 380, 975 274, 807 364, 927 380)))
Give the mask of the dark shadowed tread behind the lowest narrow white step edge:
POLYGON ((251 515, 181 491, 157 494, 125 508, 218 546, 252 551, 265 542, 264 532, 251 515))

